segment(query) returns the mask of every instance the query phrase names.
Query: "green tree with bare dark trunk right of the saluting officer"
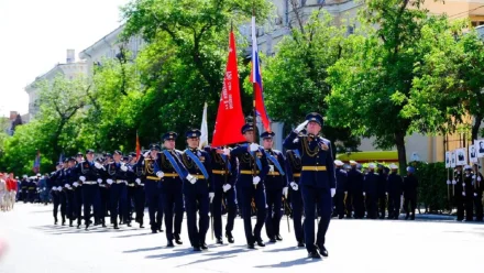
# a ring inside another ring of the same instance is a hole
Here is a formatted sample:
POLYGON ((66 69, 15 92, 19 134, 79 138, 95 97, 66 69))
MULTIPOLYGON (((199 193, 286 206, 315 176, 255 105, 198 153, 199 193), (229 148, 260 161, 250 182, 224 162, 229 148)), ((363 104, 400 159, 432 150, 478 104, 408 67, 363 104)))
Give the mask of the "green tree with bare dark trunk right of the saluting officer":
POLYGON ((328 83, 333 87, 327 97, 330 123, 350 128, 356 135, 375 136, 380 148, 396 146, 402 173, 407 163, 405 136, 414 121, 404 108, 411 100, 414 79, 421 74, 415 65, 429 52, 417 45, 428 39, 424 28, 441 24, 421 8, 424 2, 365 1, 360 21, 377 28, 369 28, 365 37, 350 36, 353 54, 329 68, 328 83))

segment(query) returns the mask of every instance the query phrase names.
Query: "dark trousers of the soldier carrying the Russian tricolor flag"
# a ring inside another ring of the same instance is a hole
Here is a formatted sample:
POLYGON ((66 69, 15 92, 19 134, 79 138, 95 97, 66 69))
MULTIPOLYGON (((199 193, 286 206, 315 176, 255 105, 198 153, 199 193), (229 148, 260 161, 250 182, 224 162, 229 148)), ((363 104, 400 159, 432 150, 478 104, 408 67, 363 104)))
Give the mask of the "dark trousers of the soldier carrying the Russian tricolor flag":
POLYGON ((264 227, 264 220, 266 216, 265 210, 265 192, 262 185, 257 185, 256 188, 250 187, 239 187, 238 193, 240 194, 240 204, 242 207, 242 218, 244 220, 245 239, 248 243, 255 243, 256 240, 262 240, 261 230, 264 227), (252 231, 252 198, 255 203, 255 208, 257 209, 254 230, 252 231))

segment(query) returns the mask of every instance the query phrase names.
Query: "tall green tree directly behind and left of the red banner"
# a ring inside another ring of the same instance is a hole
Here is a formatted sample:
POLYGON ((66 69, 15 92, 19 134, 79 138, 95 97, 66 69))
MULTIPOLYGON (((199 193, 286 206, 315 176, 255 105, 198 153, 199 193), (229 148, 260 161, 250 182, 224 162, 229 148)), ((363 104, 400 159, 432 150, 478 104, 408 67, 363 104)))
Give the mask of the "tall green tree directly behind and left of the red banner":
POLYGON ((271 7, 265 0, 138 0, 123 8, 124 37, 147 42, 136 61, 145 92, 138 124, 145 141, 198 128, 205 101, 212 128, 230 25, 249 22, 253 10, 266 19, 271 7))

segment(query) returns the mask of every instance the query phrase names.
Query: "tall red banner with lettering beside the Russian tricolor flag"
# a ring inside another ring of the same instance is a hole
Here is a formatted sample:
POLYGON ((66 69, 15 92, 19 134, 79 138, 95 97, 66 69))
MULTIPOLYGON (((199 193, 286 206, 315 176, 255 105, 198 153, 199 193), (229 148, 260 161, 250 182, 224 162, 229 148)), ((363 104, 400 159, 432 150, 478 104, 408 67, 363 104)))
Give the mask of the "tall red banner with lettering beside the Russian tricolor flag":
POLYGON ((213 130, 212 146, 223 146, 245 141, 241 133, 245 124, 239 88, 239 70, 237 67, 237 48, 233 32, 229 39, 229 59, 227 61, 220 105, 213 130))

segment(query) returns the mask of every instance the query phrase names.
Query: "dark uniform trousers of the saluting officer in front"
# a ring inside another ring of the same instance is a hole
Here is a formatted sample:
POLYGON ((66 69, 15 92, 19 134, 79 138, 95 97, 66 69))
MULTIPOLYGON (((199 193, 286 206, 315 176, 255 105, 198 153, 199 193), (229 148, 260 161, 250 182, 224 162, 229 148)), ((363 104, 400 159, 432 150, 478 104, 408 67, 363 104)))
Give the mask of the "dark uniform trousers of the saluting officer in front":
POLYGON ((329 188, 317 188, 312 186, 302 185, 300 187, 302 194, 302 203, 305 208, 305 241, 306 249, 309 252, 315 251, 316 245, 323 247, 326 243, 326 232, 328 231, 329 222, 332 214, 332 199, 329 188), (320 209, 321 219, 318 226, 318 233, 316 236, 315 244, 315 206, 320 209))

